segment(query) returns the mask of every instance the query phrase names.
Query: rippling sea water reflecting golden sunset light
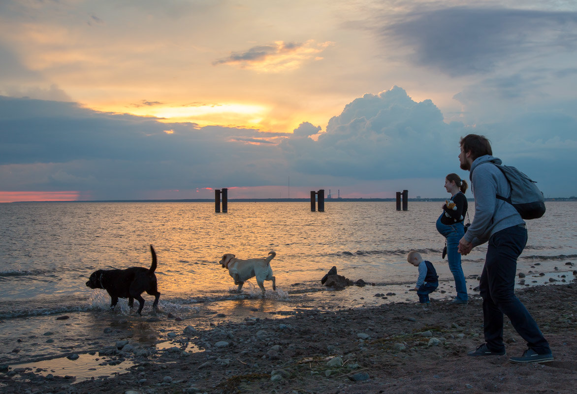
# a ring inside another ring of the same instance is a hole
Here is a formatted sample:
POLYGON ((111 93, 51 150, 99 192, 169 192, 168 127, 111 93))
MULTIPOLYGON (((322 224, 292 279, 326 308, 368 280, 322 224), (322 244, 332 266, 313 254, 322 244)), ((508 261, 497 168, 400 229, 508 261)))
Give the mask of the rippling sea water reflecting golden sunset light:
MULTIPOLYGON (((404 212, 394 202, 327 201, 325 212, 310 212, 308 202, 233 201, 228 213, 215 213, 209 202, 0 204, 0 364, 93 350, 103 345, 95 339, 118 321, 128 321, 131 335, 146 339, 186 325, 299 308, 416 301, 408 291, 417 278, 406 262, 411 249, 436 266, 445 291, 434 294, 437 299, 454 297, 452 276, 441 260, 444 238, 434 226, 440 205, 413 202, 404 212), (147 321, 153 297, 143 294, 139 317, 126 300, 110 312, 106 292, 85 286, 96 269, 149 267, 149 244, 158 254, 162 293, 156 323, 147 321), (271 266, 278 291, 265 282, 268 291, 261 298, 252 279, 243 294, 234 294, 220 257, 265 257, 270 250, 277 253, 271 266), (320 279, 332 266, 374 286, 327 290, 320 279), (381 293, 389 295, 375 297, 381 293), (63 315, 69 318, 57 320, 63 315)), ((529 243, 518 271, 528 273, 528 284, 572 280, 573 268, 565 264, 577 257, 576 220, 577 203, 548 202, 545 217, 527 222, 529 243)), ((477 286, 485 250, 463 258, 470 288, 477 286)))

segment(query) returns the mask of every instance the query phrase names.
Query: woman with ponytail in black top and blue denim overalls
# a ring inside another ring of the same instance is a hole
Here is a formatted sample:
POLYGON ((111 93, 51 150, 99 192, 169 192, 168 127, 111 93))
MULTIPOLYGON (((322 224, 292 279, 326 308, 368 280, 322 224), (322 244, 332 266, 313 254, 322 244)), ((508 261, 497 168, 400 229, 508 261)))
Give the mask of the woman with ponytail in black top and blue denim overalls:
POLYGON ((445 190, 451 194, 451 199, 443 204, 443 213, 437 219, 437 231, 447 239, 447 260, 449 269, 455 278, 455 290, 457 296, 452 303, 465 305, 469 296, 467 295, 467 283, 461 267, 461 255, 458 252, 459 240, 463 238, 463 221, 467 215, 467 197, 464 193, 467 190, 467 182, 457 174, 449 174, 445 178, 445 190))

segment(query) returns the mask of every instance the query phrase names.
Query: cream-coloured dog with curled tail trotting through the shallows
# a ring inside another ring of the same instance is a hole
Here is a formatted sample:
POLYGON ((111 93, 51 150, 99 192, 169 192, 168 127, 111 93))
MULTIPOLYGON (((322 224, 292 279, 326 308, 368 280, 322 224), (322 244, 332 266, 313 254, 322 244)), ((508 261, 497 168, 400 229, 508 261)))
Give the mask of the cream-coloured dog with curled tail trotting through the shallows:
POLYGON ((236 258, 234 254, 227 253, 219 261, 222 268, 228 268, 228 273, 234 279, 234 284, 238 284, 237 292, 241 292, 242 285, 247 280, 256 276, 256 283, 263 291, 264 295, 264 281, 272 280, 272 290, 276 290, 276 279, 272 276, 271 260, 276 256, 276 253, 271 250, 268 252, 267 258, 249 258, 248 260, 241 260, 236 258))

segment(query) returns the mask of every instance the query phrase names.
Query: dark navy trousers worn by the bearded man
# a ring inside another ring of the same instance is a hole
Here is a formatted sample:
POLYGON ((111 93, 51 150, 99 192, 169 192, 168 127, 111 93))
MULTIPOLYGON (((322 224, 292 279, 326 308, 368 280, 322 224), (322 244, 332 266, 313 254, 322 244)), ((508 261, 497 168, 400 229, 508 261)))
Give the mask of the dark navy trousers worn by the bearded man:
POLYGON ((527 243, 527 229, 513 226, 489 238, 485 267, 479 282, 483 297, 485 342, 492 351, 503 351, 503 314, 506 314, 527 346, 538 354, 550 352, 533 317, 515 295, 517 258, 527 243))

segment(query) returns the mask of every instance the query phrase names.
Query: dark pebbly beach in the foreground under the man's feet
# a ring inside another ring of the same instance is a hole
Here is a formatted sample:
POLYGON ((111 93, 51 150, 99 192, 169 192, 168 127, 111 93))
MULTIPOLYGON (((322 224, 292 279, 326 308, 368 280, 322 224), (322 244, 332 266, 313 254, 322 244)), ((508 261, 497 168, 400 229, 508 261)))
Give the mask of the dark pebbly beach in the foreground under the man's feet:
POLYGON ((577 378, 575 280, 516 294, 549 340, 553 362, 508 362, 525 344, 506 318, 508 357, 467 357, 482 343, 481 298, 473 295, 467 306, 436 301, 428 310, 407 302, 332 312, 302 309, 282 318, 211 323, 198 331, 182 321, 160 348, 153 337, 132 338, 88 353, 107 366, 132 363, 126 373, 77 382, 70 374, 10 368, 0 371, 0 388, 6 394, 514 392, 519 387, 525 393, 569 393, 577 378))

